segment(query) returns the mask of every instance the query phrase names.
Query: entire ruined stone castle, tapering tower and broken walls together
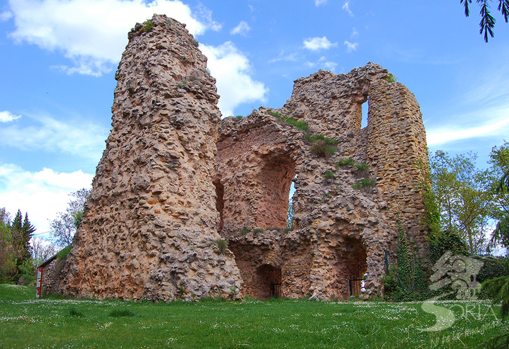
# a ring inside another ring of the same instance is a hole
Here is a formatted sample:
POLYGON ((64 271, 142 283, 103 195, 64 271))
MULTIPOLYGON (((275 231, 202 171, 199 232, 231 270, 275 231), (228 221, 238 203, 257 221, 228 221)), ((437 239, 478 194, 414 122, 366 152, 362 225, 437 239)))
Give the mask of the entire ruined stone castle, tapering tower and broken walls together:
POLYGON ((333 154, 323 156, 317 142, 266 108, 221 121, 215 80, 192 36, 173 19, 152 21, 152 31, 137 24, 128 35, 113 129, 84 219, 46 289, 164 301, 344 299, 350 280, 366 275, 363 298, 381 294, 398 224, 412 244, 426 237, 419 191, 426 133, 414 96, 372 63, 296 80, 274 111, 335 139, 333 154), (349 157, 369 168, 338 165, 349 157), (365 177, 375 185, 354 190, 365 177), (224 254, 220 237, 230 246, 224 254))

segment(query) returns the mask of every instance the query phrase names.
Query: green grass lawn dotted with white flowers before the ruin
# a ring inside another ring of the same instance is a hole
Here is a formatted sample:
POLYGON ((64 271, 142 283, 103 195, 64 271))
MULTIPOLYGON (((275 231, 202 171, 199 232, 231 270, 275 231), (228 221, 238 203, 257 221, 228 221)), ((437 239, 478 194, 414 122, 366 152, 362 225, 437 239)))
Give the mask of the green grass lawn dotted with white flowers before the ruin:
POLYGON ((507 331, 489 302, 437 302, 453 326, 421 331, 421 303, 49 298, 0 285, 0 348, 474 348, 507 331))

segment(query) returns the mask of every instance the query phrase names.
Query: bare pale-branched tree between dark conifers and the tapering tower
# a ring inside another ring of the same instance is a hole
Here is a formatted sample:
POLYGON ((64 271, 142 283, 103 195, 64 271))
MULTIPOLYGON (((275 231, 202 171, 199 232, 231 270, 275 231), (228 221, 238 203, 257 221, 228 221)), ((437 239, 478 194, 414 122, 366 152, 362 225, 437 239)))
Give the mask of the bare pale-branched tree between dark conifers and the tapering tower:
POLYGON ((74 199, 68 202, 66 212, 59 212, 58 218, 49 221, 50 235, 56 246, 63 248, 72 243, 74 233, 83 219, 84 204, 91 191, 91 189, 82 188, 69 194, 74 199))

